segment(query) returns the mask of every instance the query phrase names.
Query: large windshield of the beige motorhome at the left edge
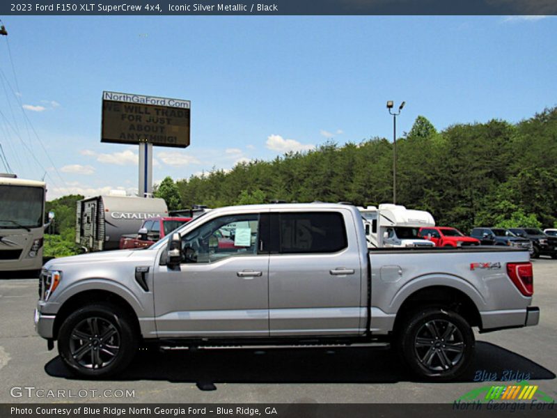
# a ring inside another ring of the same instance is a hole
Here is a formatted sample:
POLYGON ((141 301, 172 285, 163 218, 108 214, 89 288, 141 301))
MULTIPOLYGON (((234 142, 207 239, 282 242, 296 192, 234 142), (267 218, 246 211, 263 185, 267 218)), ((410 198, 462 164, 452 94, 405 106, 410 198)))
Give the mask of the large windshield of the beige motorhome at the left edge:
POLYGON ((42 227, 44 201, 42 187, 0 185, 0 228, 42 227))

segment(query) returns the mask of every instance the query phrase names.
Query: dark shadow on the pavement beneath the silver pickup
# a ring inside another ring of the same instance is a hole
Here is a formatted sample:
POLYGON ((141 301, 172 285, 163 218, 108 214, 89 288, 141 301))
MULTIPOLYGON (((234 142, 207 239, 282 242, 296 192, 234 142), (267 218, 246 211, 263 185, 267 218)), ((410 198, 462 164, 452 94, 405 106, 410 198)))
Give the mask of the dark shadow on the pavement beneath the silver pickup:
MULTIPOLYGON (((76 378, 61 361, 52 359, 45 371, 53 377, 76 378)), ((476 357, 460 382, 477 380, 478 371, 522 373, 518 380, 554 379, 556 375, 517 353, 478 341, 476 357), (526 376, 526 374, 529 375, 526 376)), ((484 374, 484 379, 485 374, 484 374)), ((417 382, 392 350, 367 348, 215 349, 140 351, 116 379, 193 382, 201 390, 219 383, 395 383, 417 382)), ((514 378, 513 380, 517 380, 514 378)))

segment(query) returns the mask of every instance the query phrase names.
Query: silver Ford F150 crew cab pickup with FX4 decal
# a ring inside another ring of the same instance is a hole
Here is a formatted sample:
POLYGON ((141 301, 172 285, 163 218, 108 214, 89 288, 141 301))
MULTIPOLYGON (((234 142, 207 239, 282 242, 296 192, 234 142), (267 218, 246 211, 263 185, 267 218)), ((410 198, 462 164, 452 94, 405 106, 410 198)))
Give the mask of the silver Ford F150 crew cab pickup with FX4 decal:
POLYGON ((368 251, 359 211, 332 203, 219 208, 148 249, 49 261, 36 329, 82 376, 139 346, 392 344, 422 378, 469 365, 480 332, 538 324, 528 251, 368 251))

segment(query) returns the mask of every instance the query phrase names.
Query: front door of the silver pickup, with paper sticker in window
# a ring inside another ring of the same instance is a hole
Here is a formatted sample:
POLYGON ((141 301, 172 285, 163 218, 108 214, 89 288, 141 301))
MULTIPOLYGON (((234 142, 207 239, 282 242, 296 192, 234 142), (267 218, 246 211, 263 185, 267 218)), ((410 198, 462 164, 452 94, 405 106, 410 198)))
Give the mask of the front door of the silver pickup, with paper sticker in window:
POLYGON ((159 337, 268 336, 269 255, 260 214, 221 215, 182 237, 182 263, 155 265, 159 337))

